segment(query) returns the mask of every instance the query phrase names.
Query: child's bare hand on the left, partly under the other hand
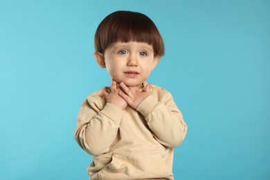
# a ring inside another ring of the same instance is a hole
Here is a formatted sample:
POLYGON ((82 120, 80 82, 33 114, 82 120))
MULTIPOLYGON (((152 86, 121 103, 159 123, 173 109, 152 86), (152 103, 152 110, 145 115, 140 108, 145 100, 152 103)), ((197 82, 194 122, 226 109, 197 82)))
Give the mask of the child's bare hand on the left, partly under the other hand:
POLYGON ((119 87, 117 87, 117 83, 115 80, 111 82, 111 93, 107 93, 106 91, 102 92, 102 96, 106 98, 106 101, 119 107, 120 109, 124 110, 127 107, 127 102, 119 96, 119 87))

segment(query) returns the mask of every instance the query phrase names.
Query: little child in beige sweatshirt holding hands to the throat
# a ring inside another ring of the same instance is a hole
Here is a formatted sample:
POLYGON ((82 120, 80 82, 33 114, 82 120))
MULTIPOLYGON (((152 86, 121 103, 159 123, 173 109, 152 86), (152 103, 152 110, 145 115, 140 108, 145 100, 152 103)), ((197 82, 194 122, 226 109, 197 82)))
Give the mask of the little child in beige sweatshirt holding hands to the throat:
POLYGON ((93 156, 90 179, 174 179, 173 147, 188 127, 171 94, 145 82, 164 55, 159 30, 141 13, 116 11, 98 26, 95 48, 112 82, 78 113, 74 136, 93 156))

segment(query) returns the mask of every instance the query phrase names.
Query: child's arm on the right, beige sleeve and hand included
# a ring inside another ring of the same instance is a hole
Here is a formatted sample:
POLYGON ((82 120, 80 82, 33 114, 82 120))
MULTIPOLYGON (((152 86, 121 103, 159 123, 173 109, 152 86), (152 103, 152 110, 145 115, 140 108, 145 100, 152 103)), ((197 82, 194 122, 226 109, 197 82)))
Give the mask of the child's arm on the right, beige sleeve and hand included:
POLYGON ((156 141, 166 147, 176 147, 182 143, 188 127, 168 91, 162 89, 158 101, 150 93, 151 84, 147 84, 142 92, 130 89, 123 82, 120 86, 123 91, 119 91, 119 95, 128 105, 143 114, 156 141))

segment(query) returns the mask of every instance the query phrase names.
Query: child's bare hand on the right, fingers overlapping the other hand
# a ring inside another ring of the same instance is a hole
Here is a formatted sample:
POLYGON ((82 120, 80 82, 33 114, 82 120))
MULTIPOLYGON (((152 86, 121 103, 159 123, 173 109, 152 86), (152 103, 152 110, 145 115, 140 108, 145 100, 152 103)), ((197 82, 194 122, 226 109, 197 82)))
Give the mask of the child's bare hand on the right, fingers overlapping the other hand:
POLYGON ((120 83, 120 87, 123 90, 120 90, 119 95, 127 102, 127 104, 134 109, 137 109, 138 105, 145 99, 147 96, 150 96, 150 87, 151 84, 147 84, 143 92, 138 89, 130 89, 125 85, 124 82, 120 83))

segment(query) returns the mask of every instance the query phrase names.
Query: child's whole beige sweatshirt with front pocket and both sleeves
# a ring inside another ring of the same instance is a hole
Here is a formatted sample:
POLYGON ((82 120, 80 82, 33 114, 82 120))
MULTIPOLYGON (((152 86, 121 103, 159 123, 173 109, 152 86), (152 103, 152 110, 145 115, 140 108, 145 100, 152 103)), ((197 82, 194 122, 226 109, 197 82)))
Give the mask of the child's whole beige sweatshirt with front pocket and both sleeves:
POLYGON ((102 91, 110 88, 82 103, 74 134, 93 156, 90 179, 174 179, 173 147, 181 144, 188 127, 171 94, 152 85, 151 95, 137 109, 122 111, 107 103, 102 91))

